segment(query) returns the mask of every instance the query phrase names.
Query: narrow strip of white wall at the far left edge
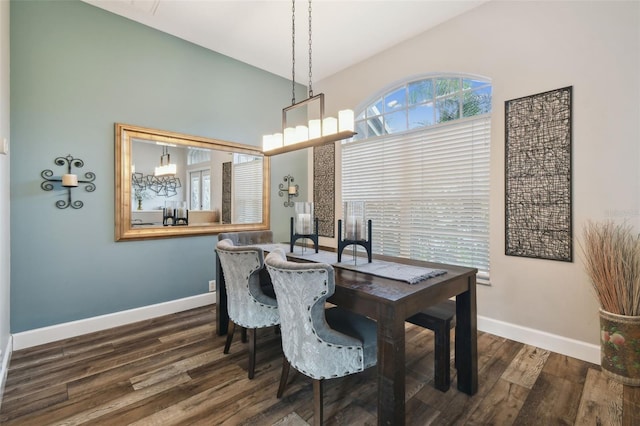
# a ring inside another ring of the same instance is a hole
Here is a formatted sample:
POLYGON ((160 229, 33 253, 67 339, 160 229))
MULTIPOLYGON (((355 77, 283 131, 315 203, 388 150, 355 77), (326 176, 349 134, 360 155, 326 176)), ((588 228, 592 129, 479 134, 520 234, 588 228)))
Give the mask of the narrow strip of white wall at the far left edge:
MULTIPOLYGON (((9 140, 9 2, 0 1, 0 150, 9 140)), ((9 334, 9 155, 0 154, 0 392, 11 351, 9 334)))

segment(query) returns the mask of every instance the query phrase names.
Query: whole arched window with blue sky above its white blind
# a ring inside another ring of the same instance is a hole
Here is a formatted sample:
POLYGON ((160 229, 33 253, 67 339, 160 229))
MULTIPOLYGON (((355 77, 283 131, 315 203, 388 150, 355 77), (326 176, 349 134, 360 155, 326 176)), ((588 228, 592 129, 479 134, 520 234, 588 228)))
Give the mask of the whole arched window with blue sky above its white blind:
POLYGON ((407 80, 356 111, 342 144, 342 200, 365 201, 373 251, 489 276, 491 83, 407 80))

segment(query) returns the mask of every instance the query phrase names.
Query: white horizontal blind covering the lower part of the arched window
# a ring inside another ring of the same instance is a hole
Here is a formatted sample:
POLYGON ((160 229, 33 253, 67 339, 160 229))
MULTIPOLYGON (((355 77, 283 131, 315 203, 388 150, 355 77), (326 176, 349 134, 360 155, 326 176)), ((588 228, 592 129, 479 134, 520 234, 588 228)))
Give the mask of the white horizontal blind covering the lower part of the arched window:
POLYGON ((489 278, 490 117, 342 145, 342 200, 365 201, 374 253, 489 278))

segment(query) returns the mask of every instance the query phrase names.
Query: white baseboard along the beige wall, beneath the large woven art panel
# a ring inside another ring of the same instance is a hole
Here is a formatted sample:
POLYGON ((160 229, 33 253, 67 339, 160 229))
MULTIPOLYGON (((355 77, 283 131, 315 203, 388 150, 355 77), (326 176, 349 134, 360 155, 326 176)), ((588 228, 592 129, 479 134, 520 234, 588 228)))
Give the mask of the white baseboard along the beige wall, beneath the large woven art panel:
POLYGON ((600 346, 478 316, 478 330, 600 365, 600 346))

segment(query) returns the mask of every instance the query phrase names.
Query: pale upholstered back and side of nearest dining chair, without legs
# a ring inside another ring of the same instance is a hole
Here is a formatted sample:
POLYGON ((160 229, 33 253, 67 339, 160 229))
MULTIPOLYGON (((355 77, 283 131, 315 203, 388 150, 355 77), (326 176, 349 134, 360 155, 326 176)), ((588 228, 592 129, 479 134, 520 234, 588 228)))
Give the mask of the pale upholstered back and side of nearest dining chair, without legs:
POLYGON ((278 299, 282 349, 289 363, 314 379, 365 369, 360 340, 329 327, 325 302, 335 290, 333 267, 287 261, 282 249, 265 259, 278 299))

